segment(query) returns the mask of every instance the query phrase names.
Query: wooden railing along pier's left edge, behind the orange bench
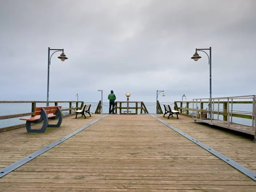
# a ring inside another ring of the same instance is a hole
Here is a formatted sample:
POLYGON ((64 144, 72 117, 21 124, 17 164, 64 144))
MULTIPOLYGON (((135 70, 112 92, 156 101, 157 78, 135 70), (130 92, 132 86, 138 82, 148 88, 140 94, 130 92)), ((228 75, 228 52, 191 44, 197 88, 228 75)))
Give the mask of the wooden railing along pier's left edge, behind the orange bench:
MULTIPOLYGON (((12 119, 12 118, 17 118, 17 117, 23 117, 23 116, 33 116, 34 115, 34 111, 35 111, 35 107, 36 106, 45 106, 47 101, 0 101, 0 104, 14 104, 14 105, 10 105, 10 108, 12 109, 12 111, 16 111, 16 107, 15 107, 15 103, 31 103, 31 112, 26 112, 26 113, 17 113, 17 114, 6 114, 6 115, 2 115, 0 116, 0 120, 3 119, 12 119), (43 104, 44 103, 44 104, 43 104), (40 104, 40 105, 38 105, 40 104)), ((69 111, 69 115, 65 115, 66 116, 70 116, 73 115, 72 114, 72 110, 77 110, 77 109, 81 109, 82 106, 84 105, 84 102, 77 102, 77 101, 49 101, 48 103, 54 103, 55 106, 61 105, 62 103, 69 103, 69 108, 61 108, 61 111, 69 111), (76 107, 73 108, 72 104, 76 103, 76 107), (80 107, 79 107, 79 103, 81 103, 80 107)), ((62 105, 61 105, 62 106, 62 105)), ((8 126, 8 127, 3 127, 0 128, 0 132, 2 131, 8 131, 8 130, 12 130, 12 129, 16 129, 16 128, 21 128, 26 126, 26 124, 19 124, 19 125, 12 125, 12 126, 8 126)))

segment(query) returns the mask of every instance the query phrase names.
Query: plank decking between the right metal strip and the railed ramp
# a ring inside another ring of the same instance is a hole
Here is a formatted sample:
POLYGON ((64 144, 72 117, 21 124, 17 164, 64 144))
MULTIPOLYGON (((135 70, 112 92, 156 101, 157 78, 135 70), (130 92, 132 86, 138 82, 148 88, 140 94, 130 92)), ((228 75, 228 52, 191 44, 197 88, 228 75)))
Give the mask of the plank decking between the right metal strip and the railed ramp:
POLYGON ((182 115, 179 121, 175 117, 157 117, 256 172, 256 143, 253 143, 253 135, 194 122, 192 118, 182 115))

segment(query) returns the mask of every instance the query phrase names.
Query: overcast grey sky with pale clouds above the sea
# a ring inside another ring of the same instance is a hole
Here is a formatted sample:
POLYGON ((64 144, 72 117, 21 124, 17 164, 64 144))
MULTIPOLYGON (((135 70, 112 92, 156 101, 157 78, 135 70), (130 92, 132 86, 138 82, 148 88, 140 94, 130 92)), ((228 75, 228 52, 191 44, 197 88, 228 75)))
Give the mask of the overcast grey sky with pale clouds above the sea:
POLYGON ((212 97, 256 94, 256 0, 0 0, 0 100, 47 100, 48 47, 50 101, 208 98, 209 47, 212 97))

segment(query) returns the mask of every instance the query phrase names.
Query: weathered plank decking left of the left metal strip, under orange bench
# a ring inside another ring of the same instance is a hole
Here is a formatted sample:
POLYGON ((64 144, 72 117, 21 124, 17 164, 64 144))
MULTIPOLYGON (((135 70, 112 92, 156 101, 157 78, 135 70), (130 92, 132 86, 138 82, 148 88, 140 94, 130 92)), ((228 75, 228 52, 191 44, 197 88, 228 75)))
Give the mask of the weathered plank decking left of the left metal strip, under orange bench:
MULTIPOLYGON (((59 128, 47 128, 42 134, 27 133, 26 127, 0 133, 0 169, 26 157, 29 154, 49 145, 84 125, 98 119, 99 114, 87 115, 87 119, 75 119, 75 116, 63 119, 59 128)), ((55 123, 57 120, 53 120, 55 123)), ((40 128, 41 124, 32 125, 32 128, 40 128)))

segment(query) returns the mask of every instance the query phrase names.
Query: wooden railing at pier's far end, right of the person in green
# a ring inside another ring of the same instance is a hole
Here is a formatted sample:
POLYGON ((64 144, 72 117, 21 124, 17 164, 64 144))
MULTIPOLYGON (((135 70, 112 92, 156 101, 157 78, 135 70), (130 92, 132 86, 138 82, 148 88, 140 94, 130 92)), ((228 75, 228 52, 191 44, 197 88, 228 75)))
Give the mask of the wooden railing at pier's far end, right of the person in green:
MULTIPOLYGON (((115 113, 118 113, 119 114, 124 114, 122 111, 126 111, 127 110, 127 106, 122 106, 122 103, 126 103, 127 102, 115 102, 115 113)), ((144 104, 144 102, 129 102, 129 110, 130 109, 135 109, 135 113, 131 113, 131 114, 134 114, 134 115, 137 115, 138 114, 138 110, 140 110, 140 113, 148 113, 148 110, 144 104), (135 107, 131 107, 131 104, 132 103, 135 103, 135 107)))

